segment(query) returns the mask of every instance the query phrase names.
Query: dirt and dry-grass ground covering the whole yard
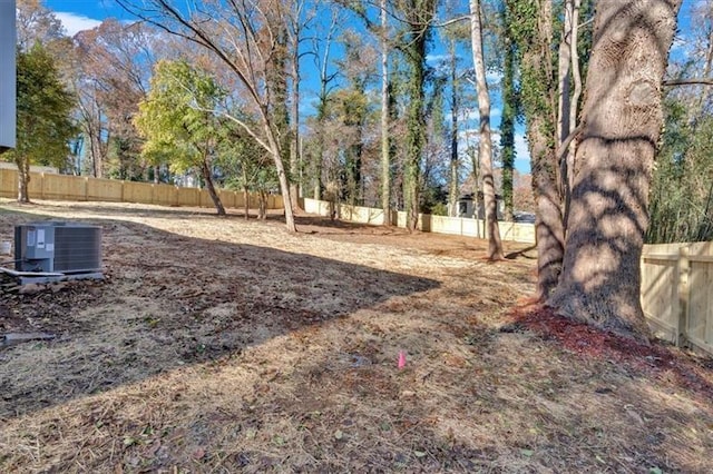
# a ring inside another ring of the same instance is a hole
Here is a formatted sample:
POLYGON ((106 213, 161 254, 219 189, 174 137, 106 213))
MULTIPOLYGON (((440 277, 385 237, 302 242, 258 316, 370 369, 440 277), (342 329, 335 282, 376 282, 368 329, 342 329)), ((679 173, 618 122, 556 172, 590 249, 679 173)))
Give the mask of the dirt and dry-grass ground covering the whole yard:
POLYGON ((518 308, 533 250, 7 199, 0 240, 47 218, 102 226, 106 278, 0 294, 56 335, 0 348, 0 472, 713 472, 711 359, 518 308))

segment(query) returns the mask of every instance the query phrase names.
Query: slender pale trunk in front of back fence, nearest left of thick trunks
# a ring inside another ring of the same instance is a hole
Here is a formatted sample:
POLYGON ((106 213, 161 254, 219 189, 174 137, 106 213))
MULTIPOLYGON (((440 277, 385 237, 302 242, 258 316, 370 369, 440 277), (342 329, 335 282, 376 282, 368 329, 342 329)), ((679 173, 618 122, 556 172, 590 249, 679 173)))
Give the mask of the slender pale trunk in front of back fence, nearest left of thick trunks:
POLYGON ((492 177, 492 137, 490 135, 490 95, 486 82, 485 57, 482 55, 482 26, 480 22, 480 0, 470 0, 470 34, 472 59, 476 66, 478 88, 478 113, 480 115, 479 146, 482 194, 486 205, 486 231, 488 236, 488 258, 502 259, 502 243, 498 227, 498 204, 492 177))

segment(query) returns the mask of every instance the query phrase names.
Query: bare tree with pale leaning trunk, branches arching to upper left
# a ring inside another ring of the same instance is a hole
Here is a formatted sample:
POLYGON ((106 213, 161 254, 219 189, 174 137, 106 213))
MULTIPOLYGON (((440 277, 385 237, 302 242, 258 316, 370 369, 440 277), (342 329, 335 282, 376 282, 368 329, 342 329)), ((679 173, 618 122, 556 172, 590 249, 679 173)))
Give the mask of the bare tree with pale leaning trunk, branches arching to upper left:
MULTIPOLYGON (((271 73, 275 58, 284 55, 284 4, 277 0, 188 0, 177 8, 169 0, 117 0, 128 12, 172 34, 207 49, 234 73, 260 118, 255 127, 222 111, 252 136, 273 158, 282 192, 287 230, 296 231, 290 178, 284 164, 285 130, 276 108, 280 91, 271 73)), ((283 71, 284 72, 284 71, 283 71)), ((289 145, 287 145, 289 146, 289 145)))

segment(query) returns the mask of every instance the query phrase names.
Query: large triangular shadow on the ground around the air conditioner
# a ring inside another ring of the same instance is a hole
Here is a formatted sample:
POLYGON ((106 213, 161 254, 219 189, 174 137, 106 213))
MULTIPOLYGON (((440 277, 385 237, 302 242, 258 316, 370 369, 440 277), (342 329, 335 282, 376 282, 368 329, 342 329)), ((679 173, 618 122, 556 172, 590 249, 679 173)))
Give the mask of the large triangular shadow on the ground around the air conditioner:
MULTIPOLYGON (((43 217, 4 214, 0 237, 8 237, 12 225, 43 217)), ((82 220, 104 228, 104 282, 3 295, 0 333, 42 330, 57 339, 0 352, 0 418, 236 355, 293 330, 439 285, 307 254, 188 238, 125 220, 82 220)))

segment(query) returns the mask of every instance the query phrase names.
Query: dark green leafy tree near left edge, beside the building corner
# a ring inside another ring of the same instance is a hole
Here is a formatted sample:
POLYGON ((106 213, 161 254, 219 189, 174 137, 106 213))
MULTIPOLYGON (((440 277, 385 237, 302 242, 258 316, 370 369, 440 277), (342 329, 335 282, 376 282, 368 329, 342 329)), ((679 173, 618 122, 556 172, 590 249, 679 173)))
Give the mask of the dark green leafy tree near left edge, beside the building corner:
POLYGON ((69 139, 77 132, 71 119, 75 97, 65 88, 55 60, 40 42, 17 56, 18 200, 29 203, 30 164, 64 168, 69 139))

